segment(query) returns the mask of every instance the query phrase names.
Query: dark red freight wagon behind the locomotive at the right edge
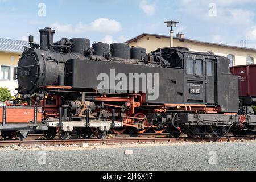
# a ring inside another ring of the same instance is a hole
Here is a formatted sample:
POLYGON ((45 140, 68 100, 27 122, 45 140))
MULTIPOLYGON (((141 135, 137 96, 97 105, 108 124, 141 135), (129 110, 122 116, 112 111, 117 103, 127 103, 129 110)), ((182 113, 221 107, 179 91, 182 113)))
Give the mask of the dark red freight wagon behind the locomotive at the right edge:
POLYGON ((240 76, 243 104, 253 105, 256 103, 256 65, 241 65, 231 68, 234 75, 240 76))

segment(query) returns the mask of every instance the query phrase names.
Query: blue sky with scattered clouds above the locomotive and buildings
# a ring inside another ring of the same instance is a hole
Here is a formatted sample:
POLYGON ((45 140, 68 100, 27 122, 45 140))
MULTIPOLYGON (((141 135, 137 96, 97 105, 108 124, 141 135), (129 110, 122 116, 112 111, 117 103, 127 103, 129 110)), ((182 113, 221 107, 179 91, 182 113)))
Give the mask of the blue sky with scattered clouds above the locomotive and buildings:
POLYGON ((39 28, 52 27, 55 41, 124 42, 142 32, 168 35, 164 21, 174 19, 180 22, 175 33, 186 38, 234 46, 247 40, 256 48, 255 10, 256 0, 0 0, 0 37, 32 34, 38 41, 39 28))

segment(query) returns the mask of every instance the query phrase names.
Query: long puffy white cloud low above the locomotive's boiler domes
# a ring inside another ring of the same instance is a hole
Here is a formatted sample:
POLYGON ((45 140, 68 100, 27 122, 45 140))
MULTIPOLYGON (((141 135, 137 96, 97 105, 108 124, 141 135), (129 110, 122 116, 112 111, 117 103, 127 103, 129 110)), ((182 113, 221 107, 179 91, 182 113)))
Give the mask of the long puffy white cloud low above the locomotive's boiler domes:
POLYGON ((75 34, 82 32, 104 32, 107 34, 112 34, 122 30, 121 23, 117 22, 116 20, 110 20, 108 18, 98 18, 89 24, 79 22, 78 24, 72 25, 56 22, 53 23, 51 27, 58 32, 75 34))

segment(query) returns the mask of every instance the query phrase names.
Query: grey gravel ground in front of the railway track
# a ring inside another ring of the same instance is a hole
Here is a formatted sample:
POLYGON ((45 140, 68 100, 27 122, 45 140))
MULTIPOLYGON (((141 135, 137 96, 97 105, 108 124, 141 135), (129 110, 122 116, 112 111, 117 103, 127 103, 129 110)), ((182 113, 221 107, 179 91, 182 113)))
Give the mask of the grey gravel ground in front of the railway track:
POLYGON ((0 166, 3 171, 255 170, 256 142, 133 144, 89 148, 39 146, 22 149, 13 146, 0 149, 0 166), (125 155, 125 150, 133 150, 134 154, 125 155), (42 164, 44 159, 46 164, 42 164), (209 164, 209 159, 213 164, 209 164))

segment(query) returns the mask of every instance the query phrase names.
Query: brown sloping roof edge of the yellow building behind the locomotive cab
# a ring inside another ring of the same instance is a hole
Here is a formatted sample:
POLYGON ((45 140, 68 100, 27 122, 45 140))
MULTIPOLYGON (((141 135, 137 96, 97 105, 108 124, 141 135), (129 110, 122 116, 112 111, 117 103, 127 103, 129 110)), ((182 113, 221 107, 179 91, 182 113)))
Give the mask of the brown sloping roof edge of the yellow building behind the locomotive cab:
MULTIPOLYGON (((127 40, 125 43, 129 44, 131 42, 134 42, 134 41, 136 41, 138 39, 143 38, 144 36, 156 36, 156 37, 159 37, 159 38, 169 38, 170 39, 170 36, 167 36, 167 35, 143 33, 141 35, 136 36, 133 39, 127 40)), ((229 45, 226 45, 226 44, 217 44, 217 43, 203 42, 203 41, 199 41, 199 40, 191 40, 191 39, 184 39, 184 38, 177 38, 177 37, 174 37, 174 39, 177 39, 177 40, 180 40, 180 41, 188 41, 188 42, 194 42, 194 43, 209 44, 209 45, 213 45, 213 46, 237 48, 237 49, 243 49, 243 50, 247 50, 247 51, 256 51, 255 48, 247 48, 247 47, 240 47, 240 46, 229 46, 229 45)))

